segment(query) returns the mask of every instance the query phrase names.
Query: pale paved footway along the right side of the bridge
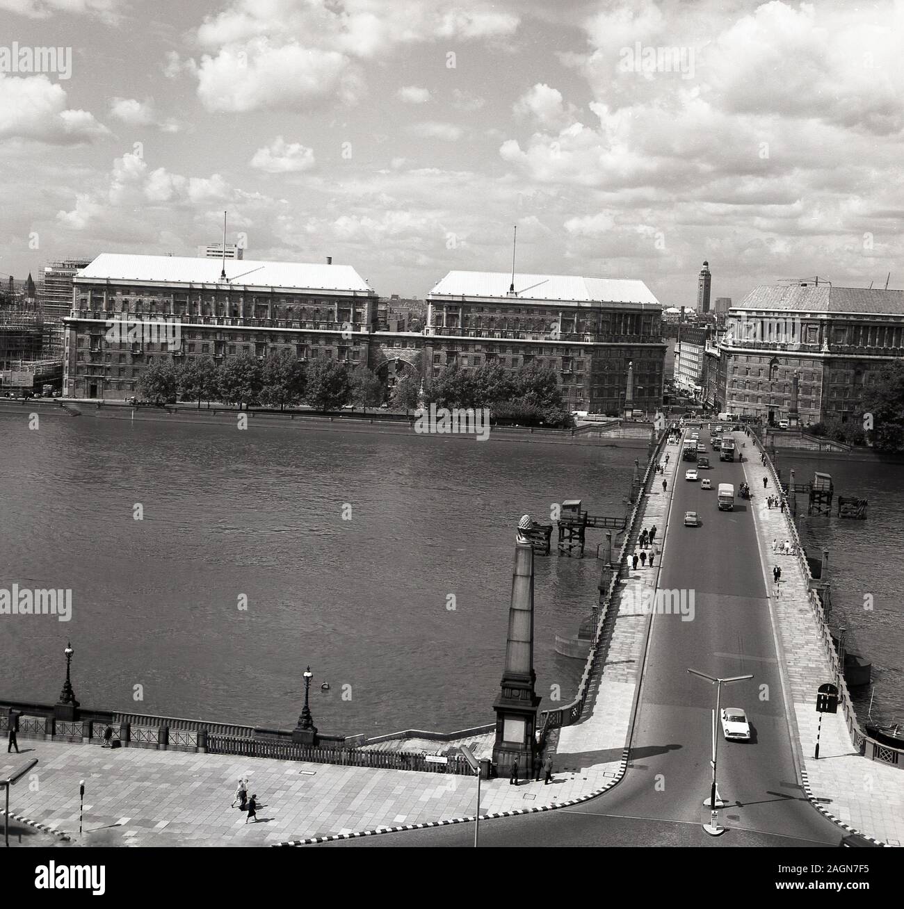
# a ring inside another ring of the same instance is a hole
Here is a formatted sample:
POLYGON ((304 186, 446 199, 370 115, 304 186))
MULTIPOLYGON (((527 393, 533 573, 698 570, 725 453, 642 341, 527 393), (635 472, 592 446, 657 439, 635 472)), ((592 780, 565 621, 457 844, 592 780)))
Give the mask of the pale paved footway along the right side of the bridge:
POLYGON ((778 630, 788 702, 793 704, 792 728, 798 745, 799 768, 809 791, 829 814, 860 833, 889 845, 904 844, 904 771, 862 757, 851 742, 844 714, 823 714, 819 760, 814 758, 819 714, 816 692, 820 684, 837 680, 820 640, 816 616, 808 603, 806 578, 797 554, 773 554, 772 541, 795 539, 788 510, 769 508, 778 477, 772 464, 761 464, 752 439, 735 433, 745 458, 744 474, 753 494, 754 522, 759 550, 768 571, 769 604, 778 630), (741 445, 747 443, 746 448, 741 445), (768 486, 764 488, 763 479, 768 486), (772 583, 772 567, 781 568, 781 581, 772 583))

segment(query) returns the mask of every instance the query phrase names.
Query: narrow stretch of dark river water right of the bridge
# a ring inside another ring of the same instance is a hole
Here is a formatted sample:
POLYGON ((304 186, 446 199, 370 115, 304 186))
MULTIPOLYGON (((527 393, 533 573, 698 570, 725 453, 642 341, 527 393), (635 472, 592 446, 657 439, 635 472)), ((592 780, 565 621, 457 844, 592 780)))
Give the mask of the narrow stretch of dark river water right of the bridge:
MULTIPOLYGON (((809 482, 820 471, 831 474, 836 496, 869 499, 865 521, 805 516, 800 542, 816 558, 829 549, 832 628, 844 625, 854 644, 846 646, 872 663, 871 687, 851 690, 860 718, 872 697, 874 718, 904 722, 904 465, 796 458, 779 449, 777 466, 784 480, 791 469, 795 483, 809 482)), ((834 502, 833 509, 837 514, 834 502)))

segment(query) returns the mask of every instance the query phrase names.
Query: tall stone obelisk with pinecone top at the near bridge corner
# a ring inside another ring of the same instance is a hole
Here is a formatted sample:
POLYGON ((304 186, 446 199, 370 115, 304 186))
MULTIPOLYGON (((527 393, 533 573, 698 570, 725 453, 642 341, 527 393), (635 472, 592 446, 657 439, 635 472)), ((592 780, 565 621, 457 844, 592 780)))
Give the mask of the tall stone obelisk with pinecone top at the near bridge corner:
POLYGON ((493 761, 497 774, 508 775, 517 760, 518 777, 532 778, 537 760, 537 710, 540 698, 534 688, 534 547, 530 517, 518 522, 512 599, 508 607, 506 668, 501 691, 493 704, 496 711, 496 742, 493 761))

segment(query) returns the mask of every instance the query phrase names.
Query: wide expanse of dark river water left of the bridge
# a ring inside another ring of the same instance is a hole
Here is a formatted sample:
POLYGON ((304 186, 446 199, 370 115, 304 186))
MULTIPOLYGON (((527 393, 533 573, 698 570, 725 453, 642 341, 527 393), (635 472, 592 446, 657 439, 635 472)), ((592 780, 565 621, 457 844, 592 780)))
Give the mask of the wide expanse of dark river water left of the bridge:
MULTIPOLYGON (((3 413, 0 438, 0 587, 73 597, 68 623, 0 616, 0 694, 54 702, 71 639, 85 707, 286 727, 310 664, 328 734, 492 722, 518 518, 564 498, 623 514, 641 454, 3 413)), ((549 706, 577 690, 554 637, 596 603, 598 564, 537 556, 536 575, 549 706)))

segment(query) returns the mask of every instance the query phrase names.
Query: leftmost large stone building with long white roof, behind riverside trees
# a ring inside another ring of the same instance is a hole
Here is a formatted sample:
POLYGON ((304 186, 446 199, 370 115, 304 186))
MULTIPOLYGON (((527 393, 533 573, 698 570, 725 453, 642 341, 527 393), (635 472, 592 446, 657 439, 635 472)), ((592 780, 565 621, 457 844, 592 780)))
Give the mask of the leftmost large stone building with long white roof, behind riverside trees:
MULTIPOLYGON (((301 360, 354 367, 379 361, 370 347, 377 294, 350 265, 308 265, 105 253, 75 275, 66 319, 64 394, 125 398, 157 358, 183 361, 289 350, 301 360), (178 343, 107 340, 114 320, 176 322, 178 343)), ((385 359, 385 358, 384 358, 385 359)))

